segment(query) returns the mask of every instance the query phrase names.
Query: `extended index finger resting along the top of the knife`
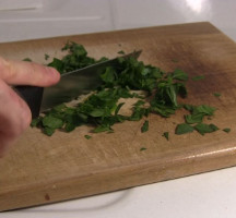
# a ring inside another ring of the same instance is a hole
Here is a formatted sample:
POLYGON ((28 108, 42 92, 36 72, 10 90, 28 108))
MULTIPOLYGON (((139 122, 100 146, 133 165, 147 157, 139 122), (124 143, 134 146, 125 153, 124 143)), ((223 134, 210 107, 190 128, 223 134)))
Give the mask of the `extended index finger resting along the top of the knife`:
POLYGON ((0 57, 0 78, 11 85, 50 86, 60 80, 54 68, 27 61, 12 61, 0 57))

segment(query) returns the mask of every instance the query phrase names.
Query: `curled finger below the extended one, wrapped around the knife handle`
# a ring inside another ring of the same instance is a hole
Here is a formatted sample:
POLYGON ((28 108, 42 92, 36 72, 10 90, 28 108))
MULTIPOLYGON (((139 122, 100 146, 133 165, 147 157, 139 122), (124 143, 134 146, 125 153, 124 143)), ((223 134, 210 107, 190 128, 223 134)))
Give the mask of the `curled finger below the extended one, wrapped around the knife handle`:
POLYGON ((31 110, 23 99, 0 80, 0 156, 14 143, 32 120, 31 110))

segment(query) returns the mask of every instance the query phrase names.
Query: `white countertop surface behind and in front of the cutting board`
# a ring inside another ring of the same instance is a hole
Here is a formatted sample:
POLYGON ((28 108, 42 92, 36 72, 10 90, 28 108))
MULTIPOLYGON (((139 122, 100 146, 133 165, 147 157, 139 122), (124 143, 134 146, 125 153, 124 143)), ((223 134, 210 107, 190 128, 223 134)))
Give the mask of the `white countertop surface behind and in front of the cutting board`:
MULTIPOLYGON (((235 0, 101 0, 103 3, 96 0, 68 0, 70 5, 67 7, 64 2, 38 0, 35 5, 31 5, 36 11, 24 11, 21 7, 20 11, 11 11, 9 5, 3 5, 3 1, 0 1, 0 9, 8 9, 0 11, 0 41, 198 21, 210 21, 236 41, 235 0), (92 10, 94 3, 99 5, 97 10, 92 10), (71 12, 76 7, 82 15, 71 12), (57 10, 54 11, 55 9, 57 10), (66 25, 68 22, 70 26, 66 25), (58 23, 63 25, 58 27, 58 23), (23 31, 19 32, 19 25, 23 31)), ((0 217, 235 218, 235 204, 236 167, 81 199, 1 213, 0 217)))

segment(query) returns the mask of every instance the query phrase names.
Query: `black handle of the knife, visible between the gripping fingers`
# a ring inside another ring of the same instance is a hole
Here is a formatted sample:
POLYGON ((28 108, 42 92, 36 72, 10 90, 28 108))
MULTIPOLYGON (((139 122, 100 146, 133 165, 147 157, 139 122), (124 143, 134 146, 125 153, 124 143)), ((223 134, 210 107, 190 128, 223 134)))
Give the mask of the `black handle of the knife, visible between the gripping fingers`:
POLYGON ((13 88, 27 102, 32 111, 32 118, 37 118, 40 111, 44 88, 27 85, 19 85, 13 88))

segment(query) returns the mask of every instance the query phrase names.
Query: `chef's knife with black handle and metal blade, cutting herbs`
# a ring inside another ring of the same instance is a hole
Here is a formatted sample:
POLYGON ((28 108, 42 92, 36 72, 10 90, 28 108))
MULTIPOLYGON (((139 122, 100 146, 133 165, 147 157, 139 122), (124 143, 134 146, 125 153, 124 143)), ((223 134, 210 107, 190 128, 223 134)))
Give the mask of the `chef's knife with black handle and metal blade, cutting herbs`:
POLYGON ((96 89, 102 83, 99 74, 105 68, 119 68, 119 58, 133 57, 137 59, 141 52, 141 50, 133 51, 115 59, 63 73, 60 82, 50 87, 15 86, 14 89, 30 106, 32 117, 36 118, 39 112, 44 112, 62 102, 69 102, 82 94, 96 89))

